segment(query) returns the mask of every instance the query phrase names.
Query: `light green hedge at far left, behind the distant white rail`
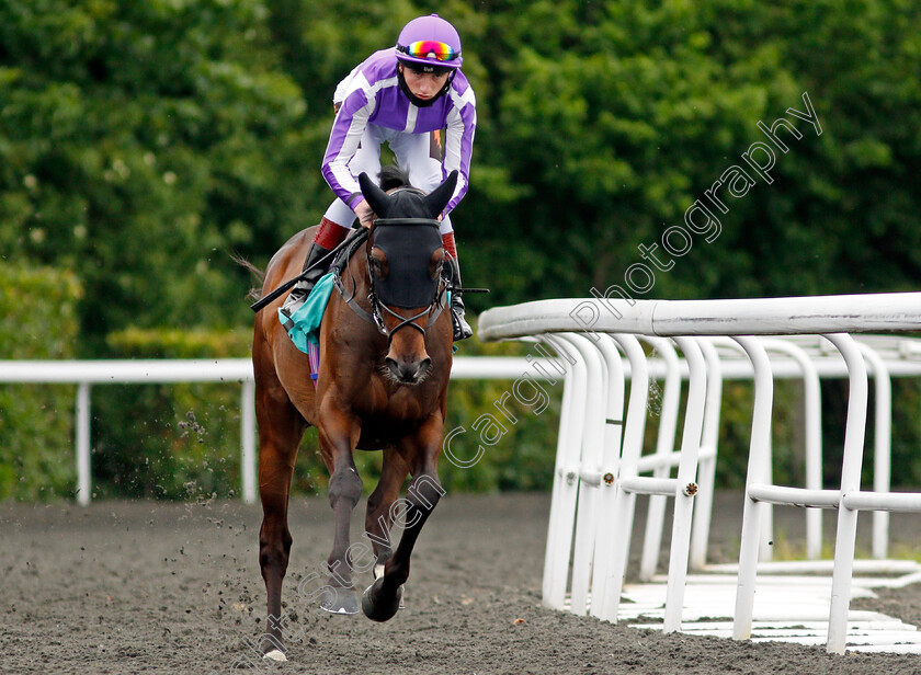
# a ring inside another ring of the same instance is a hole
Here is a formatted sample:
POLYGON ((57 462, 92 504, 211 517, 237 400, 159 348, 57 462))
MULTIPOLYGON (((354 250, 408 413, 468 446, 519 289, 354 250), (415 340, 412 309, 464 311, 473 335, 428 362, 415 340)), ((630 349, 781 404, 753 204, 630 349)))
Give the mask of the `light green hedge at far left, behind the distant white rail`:
MULTIPOLYGON (((77 277, 0 262, 0 359, 73 358, 77 277)), ((0 385, 0 500, 75 491, 76 387, 0 385)))

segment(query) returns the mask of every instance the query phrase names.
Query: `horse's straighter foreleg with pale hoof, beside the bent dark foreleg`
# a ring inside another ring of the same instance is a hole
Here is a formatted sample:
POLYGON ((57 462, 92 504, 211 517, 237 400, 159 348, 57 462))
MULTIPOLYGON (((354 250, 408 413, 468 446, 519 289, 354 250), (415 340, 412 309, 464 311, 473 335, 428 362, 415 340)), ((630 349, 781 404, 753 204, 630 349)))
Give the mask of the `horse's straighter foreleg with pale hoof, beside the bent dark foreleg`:
POLYGON ((357 614, 359 596, 352 587, 348 553, 352 511, 362 496, 362 479, 352 456, 361 426, 356 420, 333 411, 325 411, 321 420, 320 449, 330 471, 329 504, 333 511, 336 531, 327 560, 329 582, 323 588, 320 607, 332 614, 357 614))

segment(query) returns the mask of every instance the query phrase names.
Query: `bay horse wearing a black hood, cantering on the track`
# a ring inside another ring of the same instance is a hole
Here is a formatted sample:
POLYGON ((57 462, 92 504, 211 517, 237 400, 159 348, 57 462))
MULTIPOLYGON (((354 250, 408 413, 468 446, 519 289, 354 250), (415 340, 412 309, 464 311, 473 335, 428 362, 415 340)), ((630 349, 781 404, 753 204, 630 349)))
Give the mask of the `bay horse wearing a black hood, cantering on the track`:
MULTIPOLYGON (((428 195, 411 187, 399 170, 387 168, 382 176, 382 185, 387 180, 402 184, 385 192, 366 174, 359 179, 376 220, 339 274, 339 293, 331 294, 323 313, 316 387, 308 355, 294 345, 278 321, 284 296, 255 318, 252 362, 263 512, 259 564, 268 594, 262 647, 266 659, 285 660, 280 623, 282 582, 292 545, 288 494, 297 449, 308 426, 318 431, 334 514, 332 551, 327 559, 330 576, 321 594, 327 611, 359 610, 349 526, 363 483, 353 451, 384 454, 380 480, 367 500, 365 516, 376 581, 361 605, 374 620, 386 621, 399 608, 412 548, 444 493, 437 458, 453 340, 442 276, 445 252, 436 218, 454 193, 457 172, 428 195), (401 178, 394 181, 395 175, 401 178), (399 500, 408 474, 412 480, 407 496, 399 500), (397 500, 406 525, 393 551, 389 527, 397 500)), ((316 229, 300 231, 275 253, 265 271, 263 295, 300 272, 316 229)))

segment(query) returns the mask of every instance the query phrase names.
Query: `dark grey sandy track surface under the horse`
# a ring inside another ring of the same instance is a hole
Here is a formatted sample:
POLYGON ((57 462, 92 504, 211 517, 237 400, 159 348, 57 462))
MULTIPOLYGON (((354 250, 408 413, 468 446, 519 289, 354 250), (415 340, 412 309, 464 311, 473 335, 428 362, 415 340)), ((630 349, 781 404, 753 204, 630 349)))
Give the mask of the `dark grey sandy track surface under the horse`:
MULTIPOLYGON (((287 663, 253 659, 258 671, 232 667, 255 656, 248 645, 264 627, 258 505, 2 504, 0 674, 921 673, 919 655, 832 656, 822 648, 662 636, 544 609, 548 508, 544 494, 446 495, 417 547, 406 608, 374 623, 323 615, 298 594, 298 582, 322 569, 332 522, 325 497, 293 500, 284 602, 297 639, 287 663)), ((718 494, 714 513, 712 558, 732 562, 740 495, 718 494)), ((801 537, 801 514, 777 511, 785 542, 801 537)), ((355 514, 354 537, 363 520, 355 514)), ((862 516, 864 549, 868 524, 862 516)), ((633 537, 630 573, 641 531, 633 537)), ((892 538, 895 550, 917 548, 921 517, 894 515, 892 538)), ((356 585, 369 581, 363 573, 356 585)), ((921 587, 860 606, 919 625, 921 587)))

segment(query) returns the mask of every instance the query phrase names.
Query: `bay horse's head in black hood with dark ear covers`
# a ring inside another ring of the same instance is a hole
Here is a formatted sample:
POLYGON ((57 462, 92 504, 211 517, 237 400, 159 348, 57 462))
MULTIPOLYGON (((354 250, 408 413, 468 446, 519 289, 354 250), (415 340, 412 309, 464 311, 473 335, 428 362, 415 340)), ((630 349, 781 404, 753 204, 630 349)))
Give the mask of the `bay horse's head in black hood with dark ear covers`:
POLYGON ((388 339, 385 364, 393 379, 416 385, 432 364, 425 331, 446 304, 437 216, 454 194, 457 172, 428 195, 408 184, 388 194, 364 173, 359 183, 377 216, 368 238, 367 262, 372 310, 388 339))

